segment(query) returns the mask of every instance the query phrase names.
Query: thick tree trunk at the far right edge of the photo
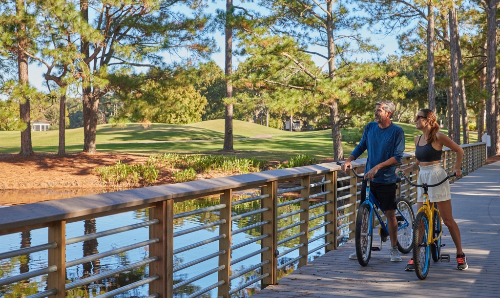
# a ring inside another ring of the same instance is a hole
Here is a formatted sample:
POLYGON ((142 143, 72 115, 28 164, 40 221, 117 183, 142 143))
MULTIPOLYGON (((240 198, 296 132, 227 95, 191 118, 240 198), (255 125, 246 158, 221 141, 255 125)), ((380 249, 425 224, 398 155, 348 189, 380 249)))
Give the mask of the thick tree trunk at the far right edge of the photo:
POLYGON ((496 102, 496 0, 488 0, 486 10, 486 132, 491 137, 488 156, 498 153, 500 136, 498 134, 498 103, 496 102))

